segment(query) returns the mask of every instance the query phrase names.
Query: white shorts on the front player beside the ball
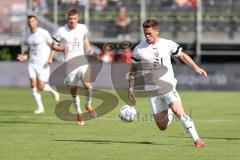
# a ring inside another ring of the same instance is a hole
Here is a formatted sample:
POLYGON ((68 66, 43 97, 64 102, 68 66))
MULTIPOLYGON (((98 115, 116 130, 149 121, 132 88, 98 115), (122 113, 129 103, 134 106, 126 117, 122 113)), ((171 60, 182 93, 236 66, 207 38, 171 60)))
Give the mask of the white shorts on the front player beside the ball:
POLYGON ((171 102, 181 101, 181 98, 178 92, 176 91, 176 89, 173 89, 167 94, 156 96, 156 97, 149 97, 149 100, 152 105, 153 114, 156 114, 156 113, 160 113, 162 111, 168 110, 168 105, 171 102))

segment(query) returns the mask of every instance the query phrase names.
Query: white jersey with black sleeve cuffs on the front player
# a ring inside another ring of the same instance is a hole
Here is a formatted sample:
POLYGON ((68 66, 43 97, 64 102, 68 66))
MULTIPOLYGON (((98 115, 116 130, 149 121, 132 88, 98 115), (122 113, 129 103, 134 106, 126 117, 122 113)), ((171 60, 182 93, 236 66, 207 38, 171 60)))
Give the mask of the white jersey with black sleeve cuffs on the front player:
POLYGON ((171 55, 179 56, 182 48, 175 42, 159 38, 155 44, 141 42, 134 48, 132 56, 133 63, 160 64, 167 67, 167 72, 159 77, 160 80, 171 83, 176 86, 177 80, 174 77, 171 55))

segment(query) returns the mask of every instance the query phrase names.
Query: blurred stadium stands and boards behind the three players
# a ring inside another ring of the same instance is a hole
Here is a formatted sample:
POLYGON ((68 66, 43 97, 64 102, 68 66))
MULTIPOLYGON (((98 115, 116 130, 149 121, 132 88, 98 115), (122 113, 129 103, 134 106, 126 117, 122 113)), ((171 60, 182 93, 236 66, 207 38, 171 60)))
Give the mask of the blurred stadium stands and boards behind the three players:
MULTIPOLYGON (((189 70, 173 59, 180 88, 240 89, 240 0, 1 1, 0 86, 28 85, 26 64, 15 61, 16 55, 25 50, 26 15, 37 15, 40 26, 53 34, 65 24, 70 8, 81 12, 81 23, 89 27, 90 40, 100 49, 105 42, 129 40, 137 44, 144 39, 141 23, 146 18, 156 18, 161 37, 181 44, 209 72, 208 80, 189 76, 189 70), (120 6, 126 7, 130 20, 125 36, 119 34, 115 25, 120 6)), ((107 71, 103 73, 108 74, 107 71)))

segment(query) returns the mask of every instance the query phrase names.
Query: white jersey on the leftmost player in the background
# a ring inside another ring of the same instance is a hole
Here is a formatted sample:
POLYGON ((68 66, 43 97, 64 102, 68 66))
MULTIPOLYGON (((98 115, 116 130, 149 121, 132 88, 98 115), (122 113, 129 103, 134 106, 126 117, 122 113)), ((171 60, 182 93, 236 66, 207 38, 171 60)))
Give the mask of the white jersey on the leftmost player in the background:
POLYGON ((29 63, 43 66, 47 63, 51 52, 49 45, 52 43, 52 38, 49 32, 38 27, 37 31, 30 33, 26 40, 29 46, 29 63))

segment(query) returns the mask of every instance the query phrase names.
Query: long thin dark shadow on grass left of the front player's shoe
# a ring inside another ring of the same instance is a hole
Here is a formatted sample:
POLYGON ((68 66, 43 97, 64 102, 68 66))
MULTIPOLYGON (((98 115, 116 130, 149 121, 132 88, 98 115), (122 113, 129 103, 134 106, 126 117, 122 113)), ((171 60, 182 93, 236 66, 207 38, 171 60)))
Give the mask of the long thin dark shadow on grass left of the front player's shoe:
POLYGON ((153 142, 147 142, 147 141, 143 141, 143 142, 136 142, 136 141, 115 141, 115 140, 91 140, 91 139, 87 139, 87 140, 82 140, 82 139, 78 139, 78 140, 60 140, 60 139, 56 139, 53 140, 55 142, 79 142, 79 143, 95 143, 95 144, 140 144, 140 145, 156 145, 156 146, 192 146, 192 145, 178 145, 178 144, 159 144, 159 143, 153 143, 153 142))

